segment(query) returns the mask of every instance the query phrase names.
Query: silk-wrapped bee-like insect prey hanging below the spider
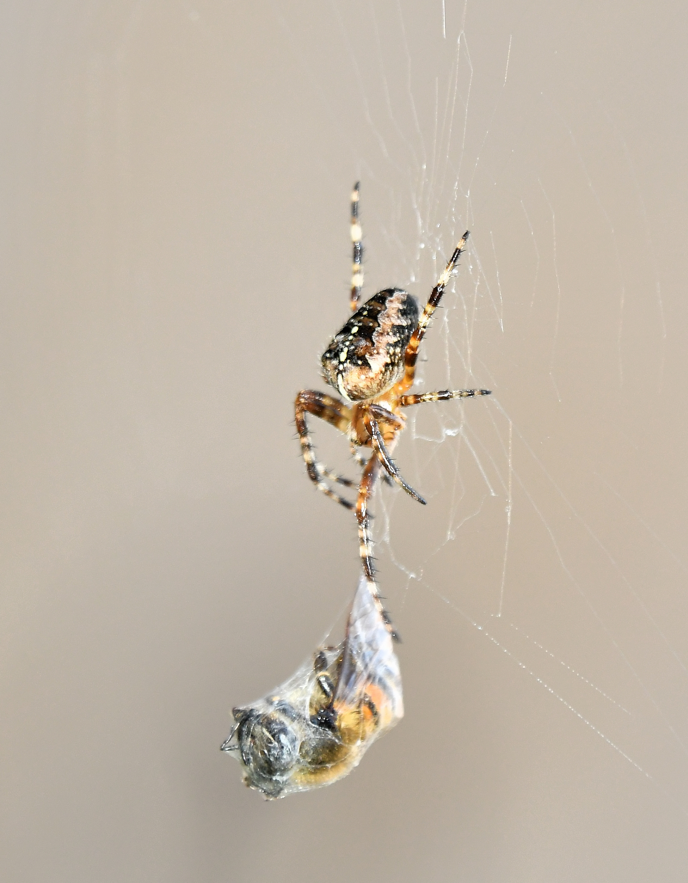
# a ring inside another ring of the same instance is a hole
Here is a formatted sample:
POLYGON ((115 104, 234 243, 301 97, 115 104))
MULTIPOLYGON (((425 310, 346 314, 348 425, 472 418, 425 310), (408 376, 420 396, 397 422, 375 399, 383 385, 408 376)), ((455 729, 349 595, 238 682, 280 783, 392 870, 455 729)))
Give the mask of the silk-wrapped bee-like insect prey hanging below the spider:
POLYGON ((404 713, 399 660, 374 584, 361 578, 337 647, 280 688, 234 709, 222 751, 243 768, 243 781, 267 798, 341 779, 404 713))

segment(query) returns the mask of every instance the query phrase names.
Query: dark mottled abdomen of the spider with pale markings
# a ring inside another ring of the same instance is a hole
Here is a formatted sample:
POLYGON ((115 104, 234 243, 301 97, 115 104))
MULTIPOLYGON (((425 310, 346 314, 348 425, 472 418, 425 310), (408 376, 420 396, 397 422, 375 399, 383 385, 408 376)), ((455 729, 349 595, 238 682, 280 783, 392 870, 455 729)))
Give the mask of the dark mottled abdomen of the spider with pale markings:
POLYGON ((407 291, 378 291, 351 316, 323 353, 325 381, 350 402, 379 396, 404 374, 404 352, 418 324, 407 291))

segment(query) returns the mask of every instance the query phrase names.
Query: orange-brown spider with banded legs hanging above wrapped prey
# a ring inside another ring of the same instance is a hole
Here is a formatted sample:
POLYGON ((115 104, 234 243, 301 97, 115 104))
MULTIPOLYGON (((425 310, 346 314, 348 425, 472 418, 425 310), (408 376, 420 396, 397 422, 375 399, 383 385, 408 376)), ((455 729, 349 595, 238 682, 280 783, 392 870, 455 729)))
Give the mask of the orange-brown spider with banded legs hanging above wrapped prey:
POLYGON ((406 424, 404 409, 423 402, 489 396, 491 390, 441 389, 438 392, 409 394, 415 381, 418 348, 464 250, 468 230, 460 238, 444 272, 439 276, 423 313, 420 313, 415 298, 400 288, 378 291, 359 307, 363 288, 363 234, 358 219, 358 197, 359 184, 356 183, 351 193, 354 261, 350 300, 351 309, 355 312, 333 337, 321 359, 325 381, 337 389, 348 404, 335 396, 303 389, 296 396, 295 422, 310 480, 335 502, 347 509, 355 509, 363 573, 373 584, 375 570, 370 540, 369 498, 380 467, 388 480, 403 487, 414 500, 423 505, 426 502, 402 478, 391 457, 406 424), (356 487, 355 482, 330 472, 318 462, 310 441, 306 414, 325 420, 348 436, 351 452, 363 470, 355 503, 340 496, 327 483, 329 480, 345 487, 356 487), (367 460, 361 456, 359 448, 371 449, 367 460))

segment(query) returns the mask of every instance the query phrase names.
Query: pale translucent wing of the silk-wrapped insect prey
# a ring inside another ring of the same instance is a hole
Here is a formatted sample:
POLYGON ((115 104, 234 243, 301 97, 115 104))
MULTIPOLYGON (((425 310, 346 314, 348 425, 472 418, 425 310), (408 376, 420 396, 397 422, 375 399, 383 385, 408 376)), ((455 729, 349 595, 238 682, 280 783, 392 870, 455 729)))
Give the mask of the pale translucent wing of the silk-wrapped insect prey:
POLYGON ((379 736, 400 721, 404 703, 399 660, 373 589, 374 585, 361 577, 348 617, 334 705, 358 706, 364 697, 370 698, 378 713, 375 735, 379 736))

